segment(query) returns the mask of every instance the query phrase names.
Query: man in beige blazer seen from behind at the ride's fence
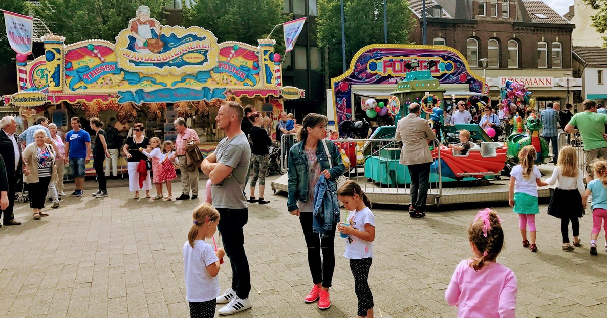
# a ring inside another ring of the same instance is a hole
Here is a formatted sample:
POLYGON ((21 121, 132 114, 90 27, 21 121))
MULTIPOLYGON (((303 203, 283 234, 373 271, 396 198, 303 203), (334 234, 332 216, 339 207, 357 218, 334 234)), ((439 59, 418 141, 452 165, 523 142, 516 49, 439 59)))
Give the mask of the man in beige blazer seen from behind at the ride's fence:
POLYGON ((436 138, 428 121, 420 118, 421 106, 418 103, 409 105, 409 115, 398 121, 396 140, 402 140, 402 151, 399 162, 407 166, 411 176, 411 205, 409 215, 412 218, 426 216, 424 207, 430 187, 430 165, 432 153, 428 140, 436 138))

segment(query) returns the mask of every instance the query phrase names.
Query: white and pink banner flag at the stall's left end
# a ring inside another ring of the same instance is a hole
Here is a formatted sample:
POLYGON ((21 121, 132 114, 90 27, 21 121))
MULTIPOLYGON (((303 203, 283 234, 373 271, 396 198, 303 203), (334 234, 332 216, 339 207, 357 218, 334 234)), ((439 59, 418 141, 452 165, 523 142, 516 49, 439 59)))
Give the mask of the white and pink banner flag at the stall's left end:
POLYGON ((33 18, 6 10, 4 24, 10 47, 17 53, 29 55, 32 53, 32 24, 33 18))

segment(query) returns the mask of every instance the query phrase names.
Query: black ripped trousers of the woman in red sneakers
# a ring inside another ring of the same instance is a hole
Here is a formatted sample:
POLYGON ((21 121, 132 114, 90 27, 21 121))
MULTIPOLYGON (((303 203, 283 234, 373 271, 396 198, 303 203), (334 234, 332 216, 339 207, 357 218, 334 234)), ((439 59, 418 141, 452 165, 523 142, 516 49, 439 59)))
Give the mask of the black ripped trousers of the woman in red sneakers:
POLYGON ((335 230, 329 230, 326 238, 320 238, 319 233, 312 232, 312 214, 313 212, 300 212, 299 221, 304 230, 305 244, 308 247, 308 266, 312 274, 314 284, 322 283, 322 287, 329 288, 333 283, 333 272, 335 271, 335 230), (322 247, 322 248, 321 248, 322 247), (320 250, 322 249, 322 260, 320 260, 320 250))

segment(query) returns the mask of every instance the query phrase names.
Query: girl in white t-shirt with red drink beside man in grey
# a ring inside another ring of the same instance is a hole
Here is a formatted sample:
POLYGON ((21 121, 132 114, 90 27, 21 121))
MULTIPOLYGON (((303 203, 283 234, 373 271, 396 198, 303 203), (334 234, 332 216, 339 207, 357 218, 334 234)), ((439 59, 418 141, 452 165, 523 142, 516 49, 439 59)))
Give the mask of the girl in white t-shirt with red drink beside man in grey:
POLYGON ((190 316, 212 318, 215 316, 215 298, 219 296, 220 259, 223 248, 214 249, 205 242, 217 231, 219 212, 211 204, 200 204, 192 213, 192 229, 188 241, 183 243, 183 273, 186 281, 186 300, 189 303, 190 316))

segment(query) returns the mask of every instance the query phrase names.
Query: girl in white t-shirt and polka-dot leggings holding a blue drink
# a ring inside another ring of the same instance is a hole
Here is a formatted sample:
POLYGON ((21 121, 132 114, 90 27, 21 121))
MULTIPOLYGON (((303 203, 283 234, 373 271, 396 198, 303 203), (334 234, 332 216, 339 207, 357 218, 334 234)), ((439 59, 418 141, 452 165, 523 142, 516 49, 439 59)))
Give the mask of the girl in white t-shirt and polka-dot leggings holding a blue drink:
POLYGON ((373 294, 367 282, 369 269, 373 263, 373 241, 375 240, 375 216, 371 212, 371 202, 361 187, 354 181, 347 181, 339 191, 337 199, 344 203, 349 216, 338 229, 347 235, 344 257, 350 259, 350 270, 354 276, 354 291, 358 298, 359 317, 373 317, 373 294))

